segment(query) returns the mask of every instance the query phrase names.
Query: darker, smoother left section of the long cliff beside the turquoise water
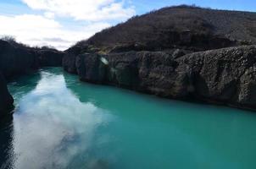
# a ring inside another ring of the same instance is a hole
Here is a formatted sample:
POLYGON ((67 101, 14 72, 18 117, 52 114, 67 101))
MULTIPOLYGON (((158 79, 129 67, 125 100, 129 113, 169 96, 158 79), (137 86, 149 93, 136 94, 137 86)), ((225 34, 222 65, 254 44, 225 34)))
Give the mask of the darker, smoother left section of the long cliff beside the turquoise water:
POLYGON ((76 57, 75 66, 84 81, 119 85, 166 97, 182 97, 187 93, 183 88, 189 82, 185 72, 175 72, 177 64, 173 55, 165 52, 122 52, 81 54, 76 57))

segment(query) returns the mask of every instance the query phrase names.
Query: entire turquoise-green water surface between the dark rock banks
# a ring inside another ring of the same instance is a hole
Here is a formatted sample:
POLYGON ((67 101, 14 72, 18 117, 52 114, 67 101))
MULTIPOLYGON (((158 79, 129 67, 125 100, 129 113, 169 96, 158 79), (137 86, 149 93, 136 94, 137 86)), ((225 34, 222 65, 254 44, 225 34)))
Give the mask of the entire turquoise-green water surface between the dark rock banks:
POLYGON ((61 68, 8 87, 16 110, 0 131, 7 168, 256 168, 253 112, 89 85, 61 68))

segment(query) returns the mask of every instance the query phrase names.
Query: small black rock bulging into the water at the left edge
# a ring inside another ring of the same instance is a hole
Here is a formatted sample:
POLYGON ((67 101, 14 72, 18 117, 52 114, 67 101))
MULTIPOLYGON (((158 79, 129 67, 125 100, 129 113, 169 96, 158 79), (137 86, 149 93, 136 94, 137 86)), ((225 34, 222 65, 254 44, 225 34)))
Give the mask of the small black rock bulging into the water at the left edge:
POLYGON ((8 93, 3 74, 0 72, 0 119, 8 114, 13 108, 14 99, 8 93))

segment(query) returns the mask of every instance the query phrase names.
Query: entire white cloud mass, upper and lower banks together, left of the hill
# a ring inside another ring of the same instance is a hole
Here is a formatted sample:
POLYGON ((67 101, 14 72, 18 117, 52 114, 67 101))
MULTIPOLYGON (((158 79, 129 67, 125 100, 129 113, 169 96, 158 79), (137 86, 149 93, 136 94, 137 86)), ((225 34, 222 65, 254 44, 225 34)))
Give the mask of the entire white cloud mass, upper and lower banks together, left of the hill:
POLYGON ((0 15, 0 35, 13 35, 31 46, 54 46, 59 50, 135 14, 129 0, 20 1, 36 13, 0 15))

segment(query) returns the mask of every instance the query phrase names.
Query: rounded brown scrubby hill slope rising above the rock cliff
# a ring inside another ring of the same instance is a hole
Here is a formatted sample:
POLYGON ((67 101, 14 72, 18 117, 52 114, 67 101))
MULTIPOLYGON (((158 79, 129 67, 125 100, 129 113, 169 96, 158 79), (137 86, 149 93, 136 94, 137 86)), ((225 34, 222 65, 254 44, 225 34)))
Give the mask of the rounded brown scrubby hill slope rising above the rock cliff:
POLYGON ((129 19, 78 43, 103 51, 204 51, 256 44, 256 13, 177 6, 129 19))

